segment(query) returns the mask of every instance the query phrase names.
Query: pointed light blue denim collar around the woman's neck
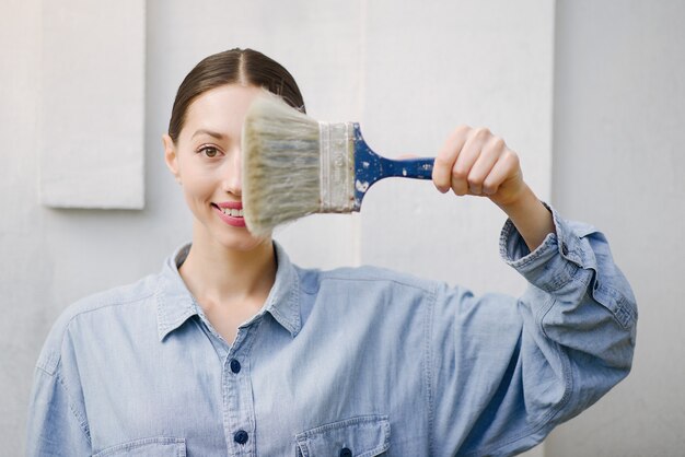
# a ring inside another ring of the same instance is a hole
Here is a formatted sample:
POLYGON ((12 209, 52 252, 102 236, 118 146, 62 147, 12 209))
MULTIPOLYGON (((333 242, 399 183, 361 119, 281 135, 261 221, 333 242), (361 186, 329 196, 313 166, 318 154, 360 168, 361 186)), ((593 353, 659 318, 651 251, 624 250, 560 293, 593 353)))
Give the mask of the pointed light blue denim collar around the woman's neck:
MULTIPOLYGON (((271 314, 276 321, 294 338, 302 327, 299 301, 300 278, 283 248, 274 242, 274 249, 277 261, 276 281, 256 317, 262 316, 264 313, 271 314)), ((178 272, 178 266, 184 262, 189 251, 189 243, 176 249, 165 260, 159 276, 154 295, 156 298, 160 341, 181 327, 189 317, 198 314, 199 305, 178 272)))

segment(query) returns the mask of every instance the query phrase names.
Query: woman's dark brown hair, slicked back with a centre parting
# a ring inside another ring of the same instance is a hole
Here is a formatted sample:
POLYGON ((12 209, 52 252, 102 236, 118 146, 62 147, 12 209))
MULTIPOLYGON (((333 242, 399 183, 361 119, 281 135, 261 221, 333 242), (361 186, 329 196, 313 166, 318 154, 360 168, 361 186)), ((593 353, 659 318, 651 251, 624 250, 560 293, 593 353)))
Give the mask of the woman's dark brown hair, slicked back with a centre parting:
POLYGON ((280 63, 253 49, 230 49, 202 59, 178 86, 169 121, 169 136, 174 143, 183 129, 188 106, 195 98, 233 83, 264 87, 305 113, 298 83, 280 63))

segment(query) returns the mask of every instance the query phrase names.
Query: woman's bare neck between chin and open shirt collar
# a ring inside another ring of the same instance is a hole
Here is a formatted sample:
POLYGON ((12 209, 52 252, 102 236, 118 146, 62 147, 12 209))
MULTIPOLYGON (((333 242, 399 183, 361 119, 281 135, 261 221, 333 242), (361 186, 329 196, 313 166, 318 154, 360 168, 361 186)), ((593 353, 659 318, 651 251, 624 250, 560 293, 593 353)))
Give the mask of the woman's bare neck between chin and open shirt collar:
POLYGON ((266 300, 276 280, 276 255, 270 238, 248 250, 229 249, 201 236, 193 238, 179 273, 196 298, 216 303, 266 300))

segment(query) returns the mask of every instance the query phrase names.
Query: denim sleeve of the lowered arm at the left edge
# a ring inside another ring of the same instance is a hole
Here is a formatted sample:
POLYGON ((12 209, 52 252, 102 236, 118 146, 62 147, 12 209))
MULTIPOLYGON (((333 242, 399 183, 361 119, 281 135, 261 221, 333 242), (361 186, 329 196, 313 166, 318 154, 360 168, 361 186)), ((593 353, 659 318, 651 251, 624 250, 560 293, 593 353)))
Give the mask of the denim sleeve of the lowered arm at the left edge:
POLYGON ((35 368, 28 408, 26 456, 90 456, 90 430, 69 339, 58 321, 35 368))

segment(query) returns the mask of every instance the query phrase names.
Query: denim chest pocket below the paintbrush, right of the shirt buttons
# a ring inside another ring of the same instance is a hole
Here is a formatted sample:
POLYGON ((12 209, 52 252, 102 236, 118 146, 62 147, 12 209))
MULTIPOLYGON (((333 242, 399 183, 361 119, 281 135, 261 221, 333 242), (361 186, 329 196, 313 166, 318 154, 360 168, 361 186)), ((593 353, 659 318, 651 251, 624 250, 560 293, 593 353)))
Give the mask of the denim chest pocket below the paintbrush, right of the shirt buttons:
POLYGON ((387 415, 358 415, 295 435, 298 456, 371 457, 390 448, 387 415))

